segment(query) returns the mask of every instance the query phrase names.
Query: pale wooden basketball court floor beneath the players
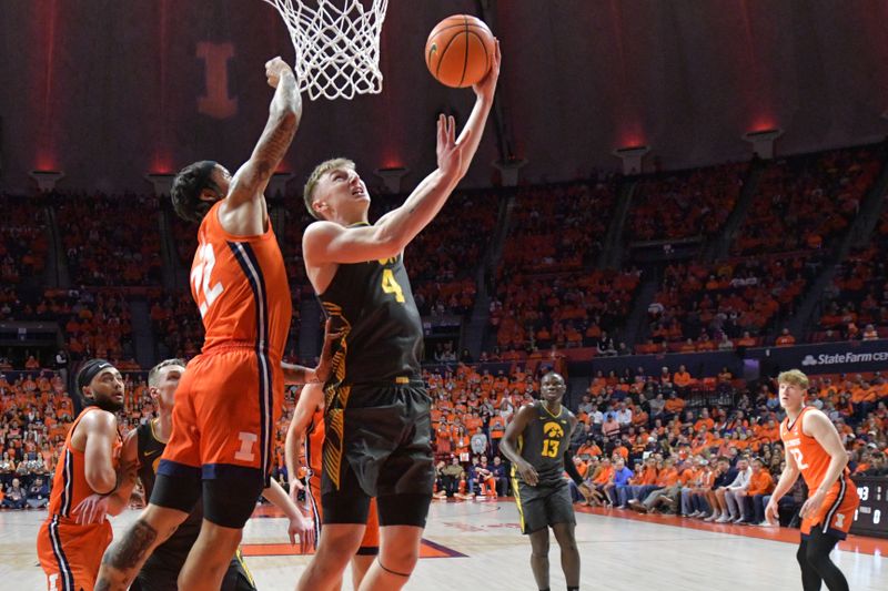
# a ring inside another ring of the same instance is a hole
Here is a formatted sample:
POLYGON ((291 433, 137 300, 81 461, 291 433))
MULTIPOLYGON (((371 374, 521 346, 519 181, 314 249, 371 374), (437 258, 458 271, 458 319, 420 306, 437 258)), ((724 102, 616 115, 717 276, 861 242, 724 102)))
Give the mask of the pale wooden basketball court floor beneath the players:
MULTIPOLYGON (((0 512, 0 589, 41 590, 34 540, 46 511, 0 512)), ((138 511, 113 520, 115 533, 138 511)), ((295 587, 307 558, 294 556, 286 521, 276 509, 260 507, 246 526, 243 553, 262 591, 295 587)), ((698 520, 636 516, 582 508, 577 541, 583 560, 581 589, 612 591, 801 589, 795 551, 798 531, 712 526, 698 520)), ((888 540, 850 537, 834 552, 855 591, 888 589, 888 540)), ((528 590, 531 549, 518 530, 512 501, 432 505, 422 559, 406 589, 528 590)), ((552 589, 565 589, 557 544, 549 553, 552 589)), ((347 581, 347 578, 346 578, 347 581)), ((351 589, 346 582, 344 589, 351 589)))

